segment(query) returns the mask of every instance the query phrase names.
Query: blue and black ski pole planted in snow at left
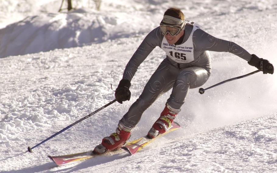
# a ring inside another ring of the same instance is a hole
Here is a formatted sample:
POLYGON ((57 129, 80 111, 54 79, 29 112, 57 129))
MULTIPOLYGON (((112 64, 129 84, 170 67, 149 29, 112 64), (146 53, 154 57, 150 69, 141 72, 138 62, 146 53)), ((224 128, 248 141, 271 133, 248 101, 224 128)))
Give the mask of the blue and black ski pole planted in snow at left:
MULTIPOLYGON (((39 145, 45 143, 47 140, 49 140, 49 139, 51 139, 51 138, 57 136, 57 135, 60 134, 61 132, 64 132, 65 130, 69 129, 69 128, 72 127, 73 125, 78 124, 79 122, 85 120, 86 118, 89 118, 90 116, 96 114, 97 112, 99 112, 99 111, 101 111, 102 109, 108 107, 110 104, 113 104, 114 102, 116 102, 116 99, 114 99, 114 100, 111 101, 110 103, 108 103, 108 104, 102 106, 101 108, 97 109, 96 111, 90 113, 89 115, 86 115, 85 117, 79 119, 78 121, 74 122, 73 124, 68 125, 66 128, 64 128, 64 129, 62 129, 61 131, 55 133, 54 135, 52 135, 52 136, 50 136, 49 138, 45 139, 44 141, 42 141, 41 143, 37 144, 36 146, 34 146, 34 147, 32 147, 32 148, 28 147, 28 151, 29 151, 30 153, 32 153, 32 152, 33 152, 32 149, 34 149, 34 148, 36 148, 37 146, 39 146, 39 145)), ((25 153, 27 153, 28 151, 26 151, 25 153)))

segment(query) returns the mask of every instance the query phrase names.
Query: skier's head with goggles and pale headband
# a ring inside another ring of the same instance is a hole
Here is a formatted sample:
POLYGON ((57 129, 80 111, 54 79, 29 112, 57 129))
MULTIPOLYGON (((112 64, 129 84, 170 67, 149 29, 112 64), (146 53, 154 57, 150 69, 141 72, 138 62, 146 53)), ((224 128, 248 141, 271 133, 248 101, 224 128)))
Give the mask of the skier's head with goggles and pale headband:
POLYGON ((170 8, 164 12, 160 30, 169 44, 175 44, 184 34, 185 16, 180 9, 170 8))

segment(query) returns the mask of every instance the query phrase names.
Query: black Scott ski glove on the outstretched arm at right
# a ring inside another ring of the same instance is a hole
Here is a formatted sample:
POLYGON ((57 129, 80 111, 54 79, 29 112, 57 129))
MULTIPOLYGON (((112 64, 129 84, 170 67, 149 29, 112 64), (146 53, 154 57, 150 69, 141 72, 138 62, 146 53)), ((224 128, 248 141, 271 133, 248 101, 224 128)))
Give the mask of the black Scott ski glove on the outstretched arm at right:
POLYGON ((255 66, 257 69, 264 72, 264 74, 270 73, 273 74, 274 67, 266 59, 259 58, 257 55, 252 54, 251 60, 248 62, 249 65, 255 66))

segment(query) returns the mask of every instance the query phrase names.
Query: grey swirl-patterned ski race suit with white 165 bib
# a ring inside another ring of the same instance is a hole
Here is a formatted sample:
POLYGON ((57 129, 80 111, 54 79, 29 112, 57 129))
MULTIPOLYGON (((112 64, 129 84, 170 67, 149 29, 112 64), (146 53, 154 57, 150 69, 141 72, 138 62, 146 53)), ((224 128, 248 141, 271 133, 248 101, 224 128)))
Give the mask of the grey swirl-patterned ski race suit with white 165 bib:
POLYGON ((172 93, 167 104, 180 109, 188 90, 202 86, 208 80, 211 72, 209 51, 230 52, 250 61, 252 56, 244 48, 231 41, 213 37, 196 26, 196 23, 187 21, 180 44, 167 44, 160 27, 152 30, 142 41, 126 65, 123 79, 131 81, 138 66, 156 46, 162 48, 167 56, 147 82, 142 94, 119 121, 118 125, 122 129, 131 131, 139 122, 142 113, 171 88, 172 93), (190 57, 186 57, 189 53, 190 57))

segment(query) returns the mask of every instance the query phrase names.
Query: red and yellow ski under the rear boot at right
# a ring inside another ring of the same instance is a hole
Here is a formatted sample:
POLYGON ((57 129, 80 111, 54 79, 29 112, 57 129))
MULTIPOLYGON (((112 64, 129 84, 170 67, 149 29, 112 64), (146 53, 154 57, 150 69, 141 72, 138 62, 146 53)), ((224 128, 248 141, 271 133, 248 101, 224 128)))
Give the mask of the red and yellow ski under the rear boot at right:
POLYGON ((131 155, 136 154, 139 150, 141 150, 143 147, 145 147, 149 143, 151 143, 154 140, 160 138, 161 136, 163 136, 169 132, 172 132, 174 130, 177 130, 179 128, 180 128, 180 125, 177 122, 172 122, 171 127, 167 132, 160 134, 153 139, 149 139, 147 136, 141 137, 139 139, 133 140, 133 141, 125 144, 123 147, 121 147, 121 149, 127 151, 131 155))

